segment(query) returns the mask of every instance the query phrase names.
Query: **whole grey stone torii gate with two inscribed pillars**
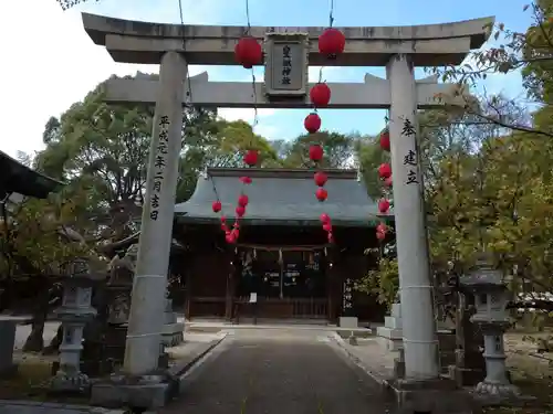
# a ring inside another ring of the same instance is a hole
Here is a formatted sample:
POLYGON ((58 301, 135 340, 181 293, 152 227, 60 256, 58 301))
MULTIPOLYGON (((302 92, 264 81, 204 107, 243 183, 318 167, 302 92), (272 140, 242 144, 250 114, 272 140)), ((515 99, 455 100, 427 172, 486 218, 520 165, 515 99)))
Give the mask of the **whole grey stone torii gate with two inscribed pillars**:
MULTIPOLYGON (((159 81, 147 77, 111 79, 107 100, 155 103, 149 153, 147 203, 144 205, 137 274, 125 351, 124 370, 145 375, 156 370, 169 259, 182 105, 213 107, 310 108, 309 65, 386 66, 387 78, 366 75, 362 83, 330 84, 330 108, 390 108, 389 132, 394 172, 394 211, 403 307, 406 378, 434 380, 439 375, 438 346, 425 227, 421 177, 416 146, 417 108, 442 105, 436 96, 456 85, 436 77, 416 81, 415 66, 458 65, 488 38, 493 18, 455 23, 338 28, 346 47, 334 62, 319 53, 325 28, 251 28, 264 40, 265 82, 209 82, 207 73, 187 81, 188 64, 233 65, 242 26, 145 23, 83 13, 84 29, 116 62, 160 64, 159 81), (292 49, 292 82, 284 85, 283 46, 292 49), (280 66, 279 66, 280 65, 280 66), (298 70, 295 70, 298 67, 298 70), (190 93, 191 91, 191 93, 190 93)), ((462 97, 457 103, 461 103, 462 97)), ((376 172, 375 172, 376 173, 376 172)))

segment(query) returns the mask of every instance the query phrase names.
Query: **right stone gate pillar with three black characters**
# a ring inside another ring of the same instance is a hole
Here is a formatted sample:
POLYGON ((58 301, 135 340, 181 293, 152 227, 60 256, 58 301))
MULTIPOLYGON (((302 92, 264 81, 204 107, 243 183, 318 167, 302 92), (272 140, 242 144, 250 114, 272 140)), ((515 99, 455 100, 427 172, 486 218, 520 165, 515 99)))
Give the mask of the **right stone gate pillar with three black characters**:
POLYGON ((417 89, 409 56, 393 56, 386 70, 392 95, 389 132, 405 374, 409 380, 430 380, 439 375, 438 342, 416 139, 417 89))

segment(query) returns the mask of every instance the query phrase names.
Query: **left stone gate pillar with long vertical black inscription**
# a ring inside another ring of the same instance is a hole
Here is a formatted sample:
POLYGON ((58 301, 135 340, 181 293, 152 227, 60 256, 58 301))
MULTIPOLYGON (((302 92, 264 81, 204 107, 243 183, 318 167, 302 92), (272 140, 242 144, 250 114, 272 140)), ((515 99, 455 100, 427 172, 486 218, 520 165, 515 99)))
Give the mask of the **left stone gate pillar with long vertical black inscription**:
POLYGON ((124 372, 132 375, 148 374, 158 365, 181 148, 186 73, 187 64, 182 54, 171 51, 161 56, 123 367, 124 372))

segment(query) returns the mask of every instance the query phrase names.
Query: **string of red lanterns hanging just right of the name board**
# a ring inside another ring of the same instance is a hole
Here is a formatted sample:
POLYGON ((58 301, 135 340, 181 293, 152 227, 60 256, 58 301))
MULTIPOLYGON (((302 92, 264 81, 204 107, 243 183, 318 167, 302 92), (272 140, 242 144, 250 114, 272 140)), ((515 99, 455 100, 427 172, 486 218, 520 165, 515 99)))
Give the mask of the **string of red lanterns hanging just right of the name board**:
MULTIPOLYGON (((319 53, 326 56, 328 61, 335 61, 337 56, 344 52, 345 47, 345 35, 340 30, 332 26, 334 22, 333 18, 334 2, 331 3, 330 11, 330 22, 328 29, 324 30, 319 36, 319 53)), ((322 81, 322 67, 319 76, 319 83, 313 85, 310 89, 310 100, 313 105, 313 112, 309 114, 303 126, 309 134, 316 134, 321 129, 322 120, 317 114, 319 108, 325 108, 331 102, 332 92, 328 85, 322 81)), ((313 161, 315 169, 319 168, 320 162, 324 156, 323 147, 320 144, 312 144, 309 149, 310 160, 313 161)), ((315 171, 313 176, 315 184, 317 187, 315 191, 315 198, 320 202, 326 201, 328 198, 328 191, 324 188, 328 181, 328 177, 324 171, 315 171)), ((326 232, 326 237, 328 243, 334 243, 332 219, 328 214, 322 213, 320 216, 323 230, 326 232)))

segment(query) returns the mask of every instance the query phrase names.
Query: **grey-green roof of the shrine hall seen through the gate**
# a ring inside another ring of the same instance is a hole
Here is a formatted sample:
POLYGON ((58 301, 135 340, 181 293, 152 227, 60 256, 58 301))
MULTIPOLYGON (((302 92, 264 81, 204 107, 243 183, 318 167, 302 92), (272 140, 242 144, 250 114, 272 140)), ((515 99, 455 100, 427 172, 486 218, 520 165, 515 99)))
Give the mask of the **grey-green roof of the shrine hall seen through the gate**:
POLYGON ((367 195, 355 170, 324 170, 328 176, 325 189, 328 199, 315 199, 316 185, 312 170, 305 169, 208 169, 200 177, 192 197, 175 206, 179 221, 211 222, 220 213, 211 210, 219 199, 222 213, 234 216, 237 199, 242 188, 250 200, 243 217, 250 224, 320 225, 321 213, 332 217, 335 225, 374 226, 380 216, 377 203, 367 195), (253 182, 243 185, 239 178, 248 176, 253 182))

